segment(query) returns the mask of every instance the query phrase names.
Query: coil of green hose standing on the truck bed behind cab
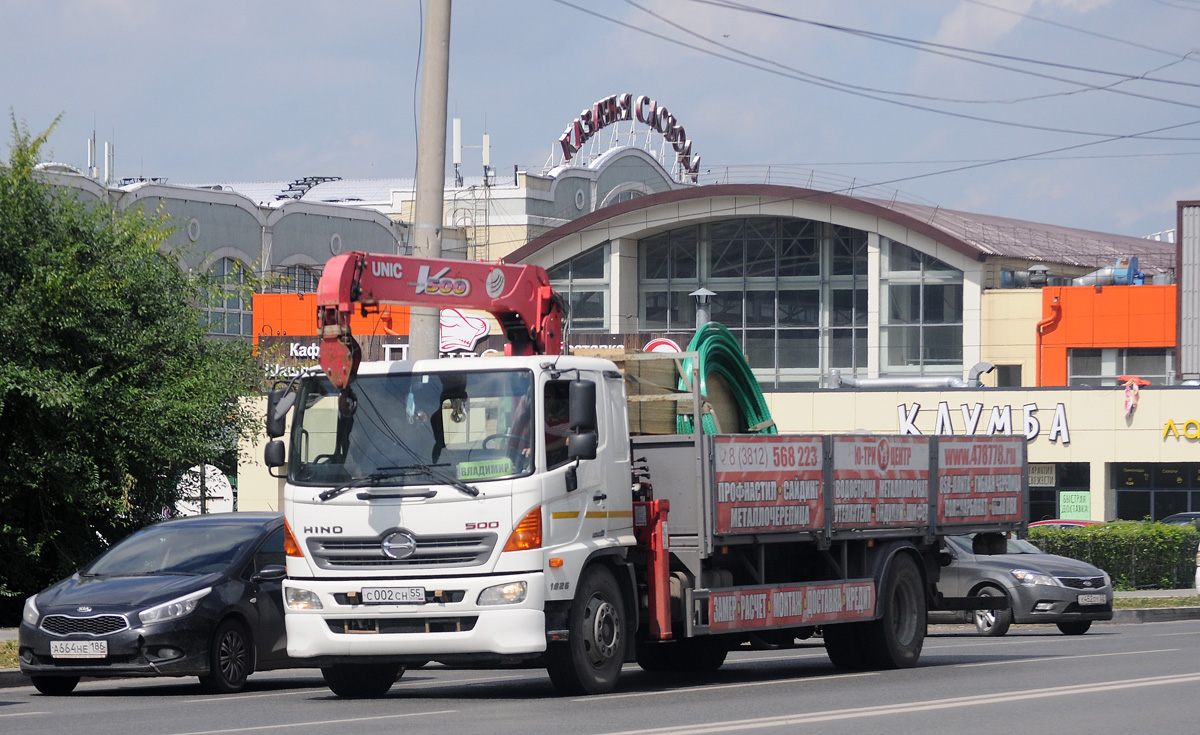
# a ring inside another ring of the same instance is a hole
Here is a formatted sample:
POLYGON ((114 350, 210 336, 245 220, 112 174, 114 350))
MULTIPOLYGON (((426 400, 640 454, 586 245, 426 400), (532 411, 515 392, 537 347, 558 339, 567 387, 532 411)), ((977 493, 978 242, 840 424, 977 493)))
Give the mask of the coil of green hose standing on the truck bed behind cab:
MULTIPOLYGON (((696 336, 688 345, 688 352, 698 353, 700 359, 700 395, 708 400, 708 376, 719 375, 730 387, 733 401, 738 408, 738 426, 721 426, 725 434, 778 434, 775 422, 770 418, 770 410, 762 396, 762 388, 758 378, 755 377, 745 355, 742 354, 742 345, 738 339, 716 322, 709 322, 696 330, 696 336)), ((691 375, 691 358, 683 361, 683 374, 691 375)), ((679 380, 679 389, 689 390, 683 378, 679 380)), ((716 434, 716 422, 709 411, 703 412, 700 420, 704 434, 716 434)), ((679 414, 676 419, 677 434, 691 434, 691 414, 679 414)))

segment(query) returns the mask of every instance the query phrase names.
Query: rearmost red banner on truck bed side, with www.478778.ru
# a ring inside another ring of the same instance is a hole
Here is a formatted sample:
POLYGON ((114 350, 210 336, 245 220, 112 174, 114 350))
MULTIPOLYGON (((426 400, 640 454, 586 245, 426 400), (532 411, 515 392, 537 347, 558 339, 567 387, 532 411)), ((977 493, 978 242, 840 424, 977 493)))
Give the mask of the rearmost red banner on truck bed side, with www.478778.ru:
POLYGON ((943 436, 937 464, 938 525, 1025 518, 1025 437, 943 436))

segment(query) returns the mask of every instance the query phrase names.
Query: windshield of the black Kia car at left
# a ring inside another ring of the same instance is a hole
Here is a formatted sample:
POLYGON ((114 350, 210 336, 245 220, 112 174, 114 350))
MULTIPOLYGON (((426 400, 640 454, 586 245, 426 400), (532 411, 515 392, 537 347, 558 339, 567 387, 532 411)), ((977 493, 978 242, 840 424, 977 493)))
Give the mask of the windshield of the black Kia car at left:
POLYGON ((86 576, 221 572, 259 536, 245 524, 160 524, 127 537, 91 562, 86 576))

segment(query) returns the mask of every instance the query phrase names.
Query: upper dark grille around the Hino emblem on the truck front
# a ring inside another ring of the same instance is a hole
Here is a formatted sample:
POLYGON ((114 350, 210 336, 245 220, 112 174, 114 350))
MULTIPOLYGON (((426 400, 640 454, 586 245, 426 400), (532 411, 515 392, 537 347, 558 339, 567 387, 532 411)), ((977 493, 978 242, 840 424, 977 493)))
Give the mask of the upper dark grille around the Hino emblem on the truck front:
POLYGON ((392 558, 383 542, 396 533, 389 530, 366 538, 308 538, 308 552, 322 569, 419 569, 428 567, 470 567, 481 564, 496 548, 494 533, 410 536, 416 546, 409 556, 392 558))

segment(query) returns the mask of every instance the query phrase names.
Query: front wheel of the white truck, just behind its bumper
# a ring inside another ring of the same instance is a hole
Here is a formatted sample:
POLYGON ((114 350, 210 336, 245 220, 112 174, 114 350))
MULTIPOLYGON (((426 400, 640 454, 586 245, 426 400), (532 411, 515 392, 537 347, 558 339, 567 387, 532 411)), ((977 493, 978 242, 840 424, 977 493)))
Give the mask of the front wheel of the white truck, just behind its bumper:
POLYGON ((625 604, 612 572, 593 566, 571 602, 568 639, 546 650, 546 670, 563 694, 602 694, 625 659, 625 604))

